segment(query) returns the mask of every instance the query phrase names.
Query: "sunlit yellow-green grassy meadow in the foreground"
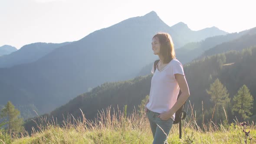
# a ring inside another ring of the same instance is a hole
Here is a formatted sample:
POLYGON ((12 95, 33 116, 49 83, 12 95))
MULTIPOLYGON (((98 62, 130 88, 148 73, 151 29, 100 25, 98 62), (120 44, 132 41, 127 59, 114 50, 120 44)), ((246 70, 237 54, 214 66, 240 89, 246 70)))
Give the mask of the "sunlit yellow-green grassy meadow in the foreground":
MULTIPOLYGON (((190 109, 191 110, 191 109, 190 109)), ((126 115, 125 111, 115 110, 111 115, 111 108, 106 112, 98 113, 96 122, 86 119, 66 118, 62 127, 56 119, 45 121, 41 118, 38 124, 39 131, 34 131, 31 136, 24 133, 21 137, 15 137, 12 144, 151 144, 153 137, 150 124, 146 116, 137 112, 126 115), (40 124, 43 124, 40 125, 40 124)), ((81 112, 82 113, 82 112, 81 112)), ((193 114, 194 115, 194 114, 193 114)), ((188 115, 183 121, 183 136, 179 139, 178 124, 174 124, 168 135, 169 144, 243 144, 247 140, 256 142, 256 129, 254 124, 246 127, 250 131, 249 137, 245 137, 244 127, 238 121, 232 124, 204 125, 202 129, 195 123, 195 119, 188 115)), ((1 144, 1 142, 0 142, 1 144)))

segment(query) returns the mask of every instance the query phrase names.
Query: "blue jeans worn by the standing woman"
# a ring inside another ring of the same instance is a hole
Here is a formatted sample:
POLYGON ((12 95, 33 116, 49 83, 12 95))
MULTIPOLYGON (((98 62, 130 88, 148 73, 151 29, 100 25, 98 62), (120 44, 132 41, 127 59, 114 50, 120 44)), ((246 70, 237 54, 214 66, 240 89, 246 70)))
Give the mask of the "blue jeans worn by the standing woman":
POLYGON ((150 110, 146 114, 154 137, 153 144, 167 144, 166 140, 171 130, 173 119, 161 120, 158 118, 159 113, 150 110))

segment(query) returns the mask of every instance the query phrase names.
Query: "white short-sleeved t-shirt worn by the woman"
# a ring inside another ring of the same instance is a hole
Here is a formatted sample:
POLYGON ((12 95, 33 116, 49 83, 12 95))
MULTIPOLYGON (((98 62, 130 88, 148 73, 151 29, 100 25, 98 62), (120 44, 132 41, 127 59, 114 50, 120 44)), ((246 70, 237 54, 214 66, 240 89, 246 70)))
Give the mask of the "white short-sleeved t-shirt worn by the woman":
MULTIPOLYGON (((151 72, 154 74, 151 79, 149 102, 146 107, 150 111, 163 113, 169 111, 177 101, 180 87, 174 74, 184 75, 181 62, 172 59, 160 72, 158 68, 154 72, 154 64, 151 72)), ((175 115, 171 117, 173 120, 175 115)))

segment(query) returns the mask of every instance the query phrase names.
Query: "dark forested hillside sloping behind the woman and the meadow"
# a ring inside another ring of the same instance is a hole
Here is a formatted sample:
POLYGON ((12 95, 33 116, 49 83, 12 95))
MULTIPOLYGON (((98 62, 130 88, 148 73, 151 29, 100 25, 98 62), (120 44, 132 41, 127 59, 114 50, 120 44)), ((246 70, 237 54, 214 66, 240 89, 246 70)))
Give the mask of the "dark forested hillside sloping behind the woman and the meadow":
MULTIPOLYGON (((241 52, 230 51, 214 56, 207 56, 203 59, 190 62, 184 65, 184 72, 190 88, 190 102, 194 105, 194 110, 199 115, 198 121, 201 121, 202 101, 205 109, 205 118, 211 118, 213 101, 210 101, 210 95, 207 89, 210 88, 216 79, 226 86, 232 99, 242 85, 246 85, 253 97, 256 97, 256 47, 244 49, 241 52)), ((72 114, 75 118, 81 116, 80 109, 88 119, 94 119, 97 112, 112 106, 123 108, 128 105, 128 112, 133 108, 138 108, 141 100, 149 94, 151 76, 142 76, 123 82, 105 83, 92 89, 91 92, 84 93, 72 99, 66 105, 57 108, 51 112, 49 117, 57 117, 62 121, 63 115, 72 114)), ((232 104, 231 104, 232 105, 232 104)), ((233 120, 231 109, 227 108, 228 118, 233 120)), ((253 115, 256 109, 253 109, 253 115)), ((26 128, 30 128, 32 121, 27 122, 26 128)))

